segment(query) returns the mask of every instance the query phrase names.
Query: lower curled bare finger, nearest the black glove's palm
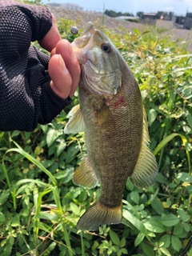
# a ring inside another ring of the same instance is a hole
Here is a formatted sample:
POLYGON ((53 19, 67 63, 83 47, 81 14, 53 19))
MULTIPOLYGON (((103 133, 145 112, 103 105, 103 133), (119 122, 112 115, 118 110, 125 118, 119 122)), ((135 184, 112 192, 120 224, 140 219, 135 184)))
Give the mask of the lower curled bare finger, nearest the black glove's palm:
POLYGON ((70 95, 72 79, 62 56, 55 54, 50 58, 48 69, 52 80, 50 82, 51 89, 58 97, 67 98, 70 95))

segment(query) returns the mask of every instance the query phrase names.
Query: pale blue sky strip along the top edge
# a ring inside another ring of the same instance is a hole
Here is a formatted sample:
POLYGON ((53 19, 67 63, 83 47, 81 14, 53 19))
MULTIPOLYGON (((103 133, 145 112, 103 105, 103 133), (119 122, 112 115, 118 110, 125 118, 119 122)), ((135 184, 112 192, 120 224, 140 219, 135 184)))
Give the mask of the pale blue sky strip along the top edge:
POLYGON ((146 13, 162 11, 173 11, 174 14, 186 16, 186 11, 192 12, 192 0, 42 0, 44 3, 75 3, 82 6, 84 10, 103 11, 114 10, 122 13, 133 13, 138 11, 146 13), (104 8, 103 8, 104 7, 104 8))

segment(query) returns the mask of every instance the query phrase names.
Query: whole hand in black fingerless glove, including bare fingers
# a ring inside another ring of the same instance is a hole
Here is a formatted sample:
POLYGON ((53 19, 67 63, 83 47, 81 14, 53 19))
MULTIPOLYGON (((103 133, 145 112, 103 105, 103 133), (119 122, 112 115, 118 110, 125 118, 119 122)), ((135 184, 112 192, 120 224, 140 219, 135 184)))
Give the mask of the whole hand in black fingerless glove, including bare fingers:
POLYGON ((0 1, 0 16, 0 130, 34 130, 70 104, 78 61, 47 8, 0 1), (51 57, 30 46, 35 40, 51 57))

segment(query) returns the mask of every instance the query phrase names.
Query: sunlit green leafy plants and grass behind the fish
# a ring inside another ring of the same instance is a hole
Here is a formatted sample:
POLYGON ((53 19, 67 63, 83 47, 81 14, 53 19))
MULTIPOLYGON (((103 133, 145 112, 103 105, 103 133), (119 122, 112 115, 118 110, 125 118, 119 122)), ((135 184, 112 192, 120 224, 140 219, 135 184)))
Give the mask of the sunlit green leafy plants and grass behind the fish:
MULTIPOLYGON (((62 37, 70 41, 71 24, 58 22, 62 37)), ((76 92, 73 104, 52 123, 31 133, 0 133, 2 256, 173 256, 190 241, 192 54, 153 31, 105 33, 140 86, 159 166, 157 182, 142 190, 127 181, 121 224, 94 233, 76 229, 100 190, 71 180, 86 151, 82 133, 63 134, 67 113, 78 104, 76 92)))

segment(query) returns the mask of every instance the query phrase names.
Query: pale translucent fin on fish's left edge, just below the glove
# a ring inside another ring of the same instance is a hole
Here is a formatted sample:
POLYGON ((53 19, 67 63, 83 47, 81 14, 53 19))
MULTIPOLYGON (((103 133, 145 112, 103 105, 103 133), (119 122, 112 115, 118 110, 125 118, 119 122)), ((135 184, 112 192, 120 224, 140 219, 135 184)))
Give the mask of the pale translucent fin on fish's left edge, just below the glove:
POLYGON ((79 104, 74 106, 69 114, 71 118, 64 128, 64 134, 77 134, 78 132, 83 131, 85 124, 79 104))

